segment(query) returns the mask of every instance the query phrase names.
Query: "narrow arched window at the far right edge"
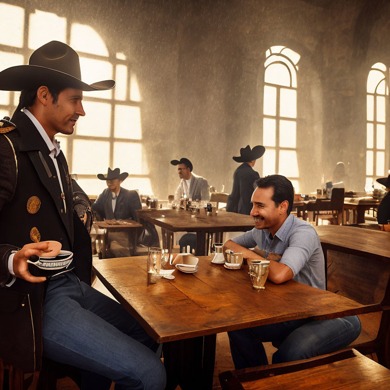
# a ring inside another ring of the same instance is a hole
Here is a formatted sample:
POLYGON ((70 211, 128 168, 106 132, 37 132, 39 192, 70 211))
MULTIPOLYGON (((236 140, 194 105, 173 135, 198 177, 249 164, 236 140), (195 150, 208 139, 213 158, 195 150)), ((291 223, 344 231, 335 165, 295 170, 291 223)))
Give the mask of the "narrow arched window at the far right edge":
POLYGON ((377 62, 367 77, 367 152, 366 190, 370 190, 377 177, 387 172, 386 167, 386 98, 388 95, 387 68, 377 62))

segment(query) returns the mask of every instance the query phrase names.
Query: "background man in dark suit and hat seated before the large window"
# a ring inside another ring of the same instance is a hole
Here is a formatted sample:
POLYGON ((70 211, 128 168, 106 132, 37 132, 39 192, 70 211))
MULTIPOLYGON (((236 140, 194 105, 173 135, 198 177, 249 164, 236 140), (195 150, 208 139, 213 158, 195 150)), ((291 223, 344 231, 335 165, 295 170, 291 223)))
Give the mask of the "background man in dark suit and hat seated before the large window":
MULTIPOLYGON (((136 210, 142 205, 138 192, 122 188, 120 184, 128 176, 127 172, 120 173, 119 168, 108 168, 107 175, 98 174, 98 179, 105 180, 107 187, 92 204, 91 208, 98 213, 100 220, 104 219, 133 219, 137 220, 136 210)), ((127 232, 109 233, 110 251, 113 257, 131 256, 128 247, 127 232), (115 242, 114 242, 115 241, 115 242)), ((140 235, 140 244, 159 246, 158 234, 153 224, 145 222, 145 231, 140 235)))

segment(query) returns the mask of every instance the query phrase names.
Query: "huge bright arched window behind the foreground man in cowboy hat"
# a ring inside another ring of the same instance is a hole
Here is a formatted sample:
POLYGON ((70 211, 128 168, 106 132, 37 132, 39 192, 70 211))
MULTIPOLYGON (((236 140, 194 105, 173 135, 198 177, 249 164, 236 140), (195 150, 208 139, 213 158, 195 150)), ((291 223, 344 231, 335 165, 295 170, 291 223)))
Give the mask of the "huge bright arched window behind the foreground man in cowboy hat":
MULTIPOLYGON (((0 70, 27 63, 32 51, 57 40, 78 52, 83 81, 116 80, 113 90, 84 92, 86 116, 77 121, 72 136, 56 136, 80 186, 90 195, 99 194, 106 183, 96 174, 118 167, 129 173, 125 188, 152 193, 142 145, 141 96, 125 54, 112 52, 91 26, 73 22, 71 13, 60 17, 6 3, 0 3, 0 12, 7 15, 0 35, 0 70)), ((0 91, 0 115, 11 116, 18 99, 19 92, 0 91)))

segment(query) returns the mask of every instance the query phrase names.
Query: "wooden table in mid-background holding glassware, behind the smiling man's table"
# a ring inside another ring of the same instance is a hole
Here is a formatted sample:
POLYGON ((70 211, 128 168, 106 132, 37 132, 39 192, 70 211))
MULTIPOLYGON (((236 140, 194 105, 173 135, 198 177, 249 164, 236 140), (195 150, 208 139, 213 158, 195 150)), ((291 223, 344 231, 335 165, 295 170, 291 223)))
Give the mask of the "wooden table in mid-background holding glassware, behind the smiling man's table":
MULTIPOLYGON (((206 233, 246 232, 254 228, 250 215, 230 213, 219 210, 217 215, 192 215, 190 211, 181 209, 146 209, 137 210, 137 217, 149 221, 168 232, 196 232, 196 255, 207 254, 206 233)), ((167 246, 166 246, 167 247, 167 246)))

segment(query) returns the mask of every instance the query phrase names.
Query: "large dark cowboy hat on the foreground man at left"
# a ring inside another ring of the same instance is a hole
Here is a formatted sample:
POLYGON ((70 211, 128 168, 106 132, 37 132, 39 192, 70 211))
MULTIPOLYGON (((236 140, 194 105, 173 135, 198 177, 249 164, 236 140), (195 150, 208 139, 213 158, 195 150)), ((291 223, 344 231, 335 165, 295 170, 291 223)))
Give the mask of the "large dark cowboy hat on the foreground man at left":
POLYGON ((115 86, 114 80, 88 85, 81 81, 78 54, 68 45, 51 41, 31 54, 28 65, 11 67, 0 72, 0 89, 21 91, 42 85, 100 91, 115 86))

